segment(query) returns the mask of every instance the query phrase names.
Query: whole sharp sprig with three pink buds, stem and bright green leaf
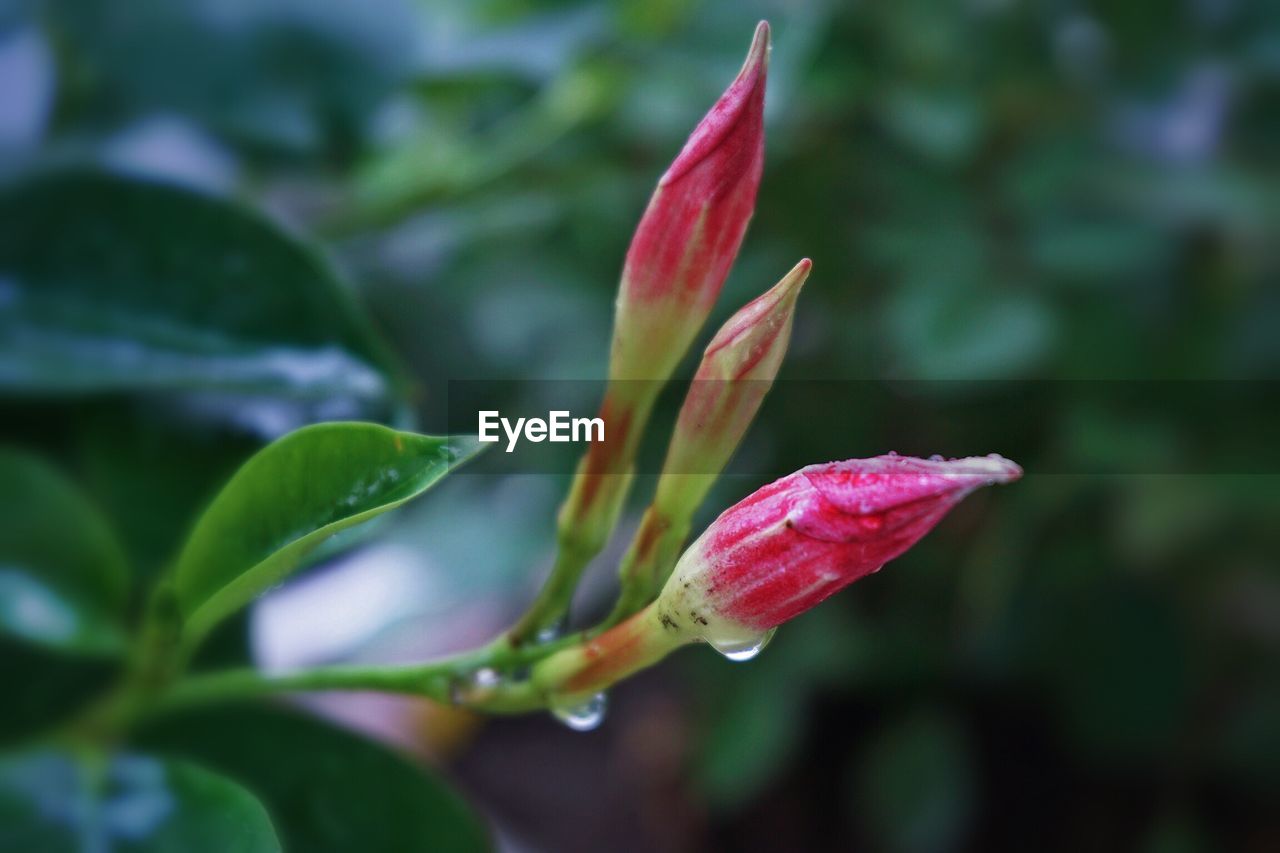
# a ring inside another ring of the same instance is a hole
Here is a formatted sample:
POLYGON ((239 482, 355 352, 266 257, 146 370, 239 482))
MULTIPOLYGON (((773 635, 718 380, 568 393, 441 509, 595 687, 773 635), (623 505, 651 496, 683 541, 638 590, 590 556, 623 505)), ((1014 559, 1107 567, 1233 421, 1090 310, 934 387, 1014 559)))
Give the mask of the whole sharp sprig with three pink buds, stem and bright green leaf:
POLYGON ((234 537, 232 521, 246 502, 260 502, 264 511, 274 506, 264 488, 287 487, 288 476, 262 487, 256 469, 306 470, 334 429, 311 426, 251 459, 206 511, 154 597, 143 643, 152 651, 140 657, 133 676, 142 686, 105 703, 96 721, 273 692, 372 689, 494 713, 549 708, 586 726, 598 720, 599 697, 611 684, 690 643, 750 657, 778 625, 910 548, 969 492, 1018 479, 1020 469, 998 456, 890 453, 810 465, 730 507, 686 547, 695 512, 782 364, 812 268, 804 259, 705 347, 653 501, 621 560, 613 610, 596 626, 553 630, 613 533, 655 397, 701 330, 742 242, 763 170, 768 63, 769 28, 760 23, 741 72, 662 175, 640 219, 622 268, 600 406, 608 439, 582 456, 558 516, 557 560, 508 631, 479 649, 419 665, 175 678, 214 625, 278 583, 319 542, 416 496, 479 447, 367 426, 366 467, 343 498, 351 511, 301 533, 285 530, 282 520, 271 532, 274 551, 246 558, 248 567, 228 578, 224 564, 207 557, 215 551, 209 543, 234 537), (361 505, 360 494, 384 487, 392 493, 376 506, 361 505))

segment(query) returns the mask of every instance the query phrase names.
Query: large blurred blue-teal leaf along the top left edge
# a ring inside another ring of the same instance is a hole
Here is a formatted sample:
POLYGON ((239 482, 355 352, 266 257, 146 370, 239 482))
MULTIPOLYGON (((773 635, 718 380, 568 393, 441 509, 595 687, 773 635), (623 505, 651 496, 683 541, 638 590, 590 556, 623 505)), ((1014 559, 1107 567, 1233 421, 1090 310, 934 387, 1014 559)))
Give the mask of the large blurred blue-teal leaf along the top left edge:
POLYGON ((413 64, 404 0, 58 0, 95 118, 179 114, 256 147, 346 154, 413 64))

